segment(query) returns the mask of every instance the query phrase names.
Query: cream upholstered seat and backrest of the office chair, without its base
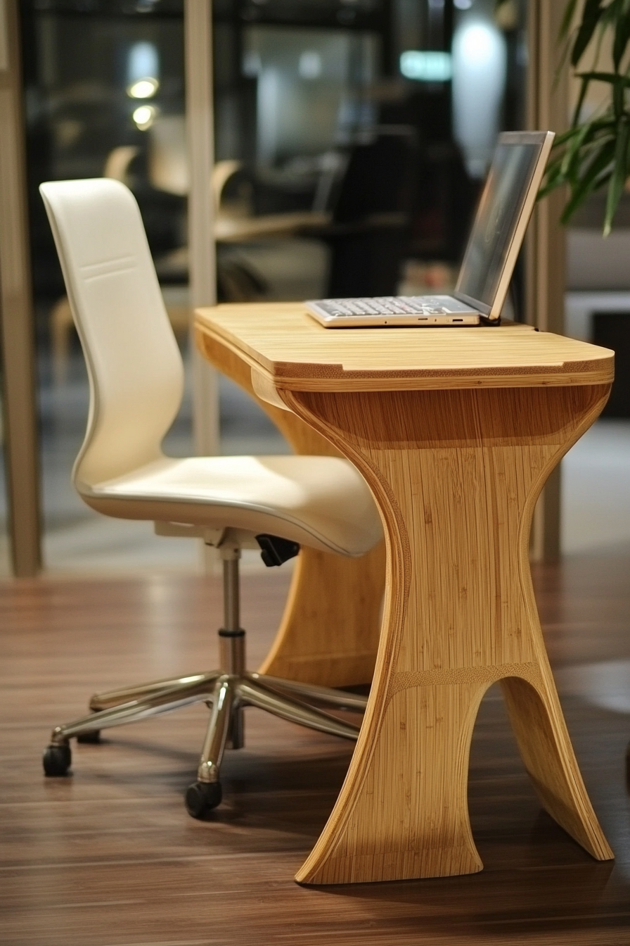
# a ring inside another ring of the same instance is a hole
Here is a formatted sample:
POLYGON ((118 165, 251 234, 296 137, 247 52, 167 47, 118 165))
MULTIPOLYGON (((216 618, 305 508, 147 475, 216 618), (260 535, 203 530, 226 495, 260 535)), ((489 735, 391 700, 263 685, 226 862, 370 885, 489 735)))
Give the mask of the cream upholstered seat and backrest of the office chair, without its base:
POLYGON ((112 180, 40 189, 90 377, 73 470, 82 498, 107 516, 277 534, 346 555, 372 548, 380 518, 345 460, 163 455, 183 368, 138 205, 112 180))

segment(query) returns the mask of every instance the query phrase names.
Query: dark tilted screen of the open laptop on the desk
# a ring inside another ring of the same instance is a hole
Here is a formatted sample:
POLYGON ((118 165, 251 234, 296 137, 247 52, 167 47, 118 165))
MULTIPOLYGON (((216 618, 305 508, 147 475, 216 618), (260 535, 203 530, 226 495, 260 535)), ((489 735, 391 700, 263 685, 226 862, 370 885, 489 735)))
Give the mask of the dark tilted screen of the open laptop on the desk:
POLYGON ((541 149, 499 139, 455 292, 492 307, 541 149))

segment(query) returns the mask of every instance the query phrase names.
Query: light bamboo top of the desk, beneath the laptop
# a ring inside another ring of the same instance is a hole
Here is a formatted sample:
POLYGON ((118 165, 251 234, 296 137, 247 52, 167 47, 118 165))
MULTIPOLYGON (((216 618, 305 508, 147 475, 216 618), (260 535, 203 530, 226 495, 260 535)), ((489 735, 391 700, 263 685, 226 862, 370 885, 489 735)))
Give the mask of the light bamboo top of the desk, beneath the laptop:
POLYGON ((614 353, 530 326, 327 329, 300 303, 196 310, 197 338, 296 391, 605 384, 614 353))

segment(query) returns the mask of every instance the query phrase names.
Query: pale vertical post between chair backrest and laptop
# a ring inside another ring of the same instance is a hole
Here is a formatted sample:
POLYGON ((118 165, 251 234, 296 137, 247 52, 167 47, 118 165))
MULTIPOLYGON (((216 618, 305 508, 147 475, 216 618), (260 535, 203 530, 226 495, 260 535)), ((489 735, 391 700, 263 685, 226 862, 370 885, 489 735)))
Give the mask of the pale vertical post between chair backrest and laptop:
MULTIPOLYGON (((211 0, 184 0, 186 61, 186 133, 190 166, 188 254, 193 307, 216 302, 216 258, 212 174, 213 5, 211 0)), ((216 372, 193 347, 193 408, 196 452, 218 451, 216 372)))

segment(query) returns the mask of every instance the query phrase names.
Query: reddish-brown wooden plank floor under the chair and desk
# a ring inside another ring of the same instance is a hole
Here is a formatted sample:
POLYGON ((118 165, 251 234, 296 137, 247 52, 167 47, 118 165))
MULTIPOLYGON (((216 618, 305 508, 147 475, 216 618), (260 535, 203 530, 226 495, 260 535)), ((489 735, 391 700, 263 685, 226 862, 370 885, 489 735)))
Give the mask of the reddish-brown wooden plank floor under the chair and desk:
MULTIPOLYGON (((561 685, 573 679, 564 669, 571 664, 622 669, 630 661, 629 576, 629 548, 537 569, 561 685)), ((243 585, 254 665, 288 575, 250 574, 243 585)), ((594 674, 587 698, 573 685, 562 700, 614 864, 592 861, 540 812, 496 689, 480 712, 470 763, 485 870, 462 878, 296 885, 351 746, 258 710, 247 710, 247 748, 229 754, 226 801, 207 821, 194 821, 182 803, 203 737, 200 708, 79 745, 72 777, 44 779, 50 727, 82 713, 91 692, 213 665, 219 590, 217 580, 175 575, 0 585, 0 942, 630 943, 630 714, 598 706, 605 673, 594 674)))

